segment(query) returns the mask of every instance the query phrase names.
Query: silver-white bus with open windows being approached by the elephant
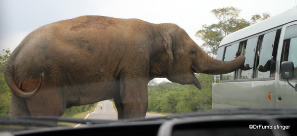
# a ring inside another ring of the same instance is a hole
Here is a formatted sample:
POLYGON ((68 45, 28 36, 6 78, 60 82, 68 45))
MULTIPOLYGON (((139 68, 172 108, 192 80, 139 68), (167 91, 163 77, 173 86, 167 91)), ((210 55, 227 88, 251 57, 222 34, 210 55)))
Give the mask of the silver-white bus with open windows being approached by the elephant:
POLYGON ((232 60, 238 51, 253 68, 214 76, 213 109, 297 109, 297 7, 228 35, 217 59, 232 60))

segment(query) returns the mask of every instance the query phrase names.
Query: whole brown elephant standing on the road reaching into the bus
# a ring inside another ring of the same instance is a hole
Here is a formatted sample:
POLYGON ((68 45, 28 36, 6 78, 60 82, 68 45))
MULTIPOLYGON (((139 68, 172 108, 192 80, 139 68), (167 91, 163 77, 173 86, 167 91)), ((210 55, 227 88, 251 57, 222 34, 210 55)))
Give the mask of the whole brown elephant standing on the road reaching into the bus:
POLYGON ((113 98, 118 118, 131 119, 146 115, 150 80, 201 90, 195 73, 246 69, 244 60, 210 57, 176 24, 80 16, 28 34, 7 59, 4 78, 13 92, 10 116, 62 116, 113 98))

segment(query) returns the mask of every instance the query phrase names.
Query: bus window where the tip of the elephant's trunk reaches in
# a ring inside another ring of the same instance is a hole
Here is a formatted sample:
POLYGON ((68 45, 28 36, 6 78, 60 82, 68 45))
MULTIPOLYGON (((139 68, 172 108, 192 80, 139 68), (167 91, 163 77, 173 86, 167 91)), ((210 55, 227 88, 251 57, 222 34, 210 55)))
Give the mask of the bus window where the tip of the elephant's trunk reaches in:
MULTIPOLYGON (((244 64, 249 64, 250 67, 254 65, 255 48, 257 45, 257 37, 248 39, 247 41, 240 42, 239 51, 241 55, 245 56, 244 64)), ((251 79, 252 69, 250 70, 240 70, 237 71, 237 79, 251 79)))

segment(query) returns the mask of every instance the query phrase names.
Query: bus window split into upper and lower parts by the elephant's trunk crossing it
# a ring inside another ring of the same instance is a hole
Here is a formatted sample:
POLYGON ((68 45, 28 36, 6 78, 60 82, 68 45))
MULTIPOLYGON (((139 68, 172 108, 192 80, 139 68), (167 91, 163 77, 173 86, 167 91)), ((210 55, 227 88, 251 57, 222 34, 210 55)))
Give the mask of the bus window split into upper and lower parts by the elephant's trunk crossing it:
MULTIPOLYGON (((239 45, 239 43, 236 43, 236 44, 233 44, 231 46, 226 47, 224 57, 223 57, 224 61, 230 61, 230 60, 234 59, 235 54, 238 51, 238 45, 239 45)), ((223 81, 224 80, 234 80, 234 73, 235 72, 231 72, 231 73, 228 73, 228 74, 223 74, 221 76, 222 80, 223 81)))

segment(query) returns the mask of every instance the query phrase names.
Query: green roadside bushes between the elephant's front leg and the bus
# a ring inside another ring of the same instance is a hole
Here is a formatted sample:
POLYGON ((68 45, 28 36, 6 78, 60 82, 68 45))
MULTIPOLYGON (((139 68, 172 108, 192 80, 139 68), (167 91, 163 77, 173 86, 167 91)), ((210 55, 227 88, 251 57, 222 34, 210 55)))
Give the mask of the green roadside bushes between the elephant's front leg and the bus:
MULTIPOLYGON (((148 111, 159 113, 187 113, 211 110, 212 75, 196 74, 202 90, 194 85, 178 83, 149 84, 148 111)), ((154 81, 153 81, 154 82, 154 81)))

